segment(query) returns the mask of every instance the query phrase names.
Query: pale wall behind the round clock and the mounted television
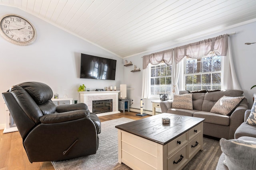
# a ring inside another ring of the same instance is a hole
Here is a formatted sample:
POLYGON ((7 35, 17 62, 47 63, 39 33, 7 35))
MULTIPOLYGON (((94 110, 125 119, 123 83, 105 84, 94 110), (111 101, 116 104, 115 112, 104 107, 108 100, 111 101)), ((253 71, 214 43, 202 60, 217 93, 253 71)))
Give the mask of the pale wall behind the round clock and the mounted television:
MULTIPOLYGON (((0 5, 0 16, 5 14, 18 14, 29 20, 38 37, 32 45, 19 46, 0 36, 1 93, 18 83, 38 81, 48 84, 59 98, 64 96, 66 89, 68 98, 79 100, 77 89, 80 84, 85 84, 90 90, 122 84, 124 64, 121 58, 22 10, 0 5), (116 59, 116 80, 80 79, 81 53, 116 59)), ((5 123, 5 105, 1 95, 0 129, 4 129, 5 123)))

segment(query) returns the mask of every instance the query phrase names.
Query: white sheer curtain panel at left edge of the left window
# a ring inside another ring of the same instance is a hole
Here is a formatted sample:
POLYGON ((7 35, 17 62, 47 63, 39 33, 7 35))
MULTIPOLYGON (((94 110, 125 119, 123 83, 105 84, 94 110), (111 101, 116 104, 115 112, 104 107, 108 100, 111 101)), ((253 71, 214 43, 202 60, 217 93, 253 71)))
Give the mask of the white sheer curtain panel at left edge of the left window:
POLYGON ((149 99, 150 97, 150 66, 142 70, 142 98, 149 99))

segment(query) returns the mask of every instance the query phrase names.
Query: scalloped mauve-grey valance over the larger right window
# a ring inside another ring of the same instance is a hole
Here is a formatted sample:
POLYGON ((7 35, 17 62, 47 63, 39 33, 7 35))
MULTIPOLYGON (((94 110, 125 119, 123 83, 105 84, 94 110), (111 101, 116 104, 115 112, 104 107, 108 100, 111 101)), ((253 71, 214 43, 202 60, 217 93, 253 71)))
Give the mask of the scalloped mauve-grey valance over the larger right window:
POLYGON ((218 56, 226 56, 227 49, 228 34, 219 35, 218 37, 174 48, 175 63, 180 63, 183 57, 199 59, 211 52, 218 56))

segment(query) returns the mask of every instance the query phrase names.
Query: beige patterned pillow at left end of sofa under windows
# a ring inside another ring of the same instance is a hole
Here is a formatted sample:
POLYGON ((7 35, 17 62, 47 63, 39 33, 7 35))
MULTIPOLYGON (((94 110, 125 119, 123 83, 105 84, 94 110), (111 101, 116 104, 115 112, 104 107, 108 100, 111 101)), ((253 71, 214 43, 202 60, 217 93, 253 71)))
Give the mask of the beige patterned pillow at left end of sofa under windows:
POLYGON ((193 110, 192 94, 174 94, 172 100, 172 108, 193 110))

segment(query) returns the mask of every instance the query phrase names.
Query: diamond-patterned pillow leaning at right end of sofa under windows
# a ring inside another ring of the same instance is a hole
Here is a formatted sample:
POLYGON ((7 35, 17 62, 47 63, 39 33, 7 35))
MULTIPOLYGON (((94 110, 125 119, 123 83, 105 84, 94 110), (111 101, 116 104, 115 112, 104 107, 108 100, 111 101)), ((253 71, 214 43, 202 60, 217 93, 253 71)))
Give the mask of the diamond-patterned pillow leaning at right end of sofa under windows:
POLYGON ((229 116, 234 111, 234 109, 236 109, 236 107, 240 104, 240 102, 242 102, 244 98, 245 96, 223 96, 216 102, 216 104, 214 104, 214 106, 211 109, 211 112, 229 116))

